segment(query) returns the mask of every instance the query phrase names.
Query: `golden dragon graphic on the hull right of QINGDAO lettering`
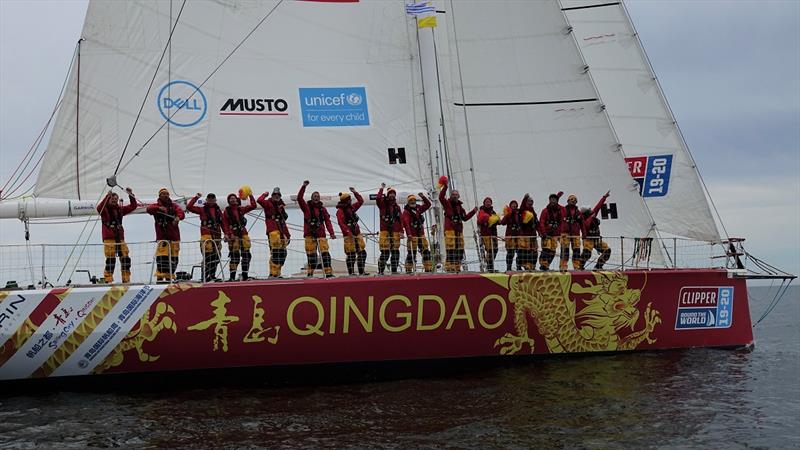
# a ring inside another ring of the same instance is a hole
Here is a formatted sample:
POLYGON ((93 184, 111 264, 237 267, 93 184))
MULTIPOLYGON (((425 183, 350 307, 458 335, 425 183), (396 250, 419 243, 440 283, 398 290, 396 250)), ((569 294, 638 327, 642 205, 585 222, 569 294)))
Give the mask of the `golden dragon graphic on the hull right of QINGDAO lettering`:
POLYGON ((635 331, 642 289, 628 288, 624 273, 595 272, 594 281, 585 280, 584 285, 572 283, 569 273, 518 274, 507 279, 494 275, 491 279, 508 288, 508 300, 514 307, 515 333, 506 333, 494 343, 502 355, 516 354, 525 344, 533 353, 529 317, 551 353, 633 350, 644 341, 656 341, 650 335, 661 323, 661 315, 648 303, 644 327, 635 331), (578 302, 570 294, 591 297, 581 301, 586 306, 577 310, 578 302), (630 328, 630 333, 624 334, 625 328, 630 328))

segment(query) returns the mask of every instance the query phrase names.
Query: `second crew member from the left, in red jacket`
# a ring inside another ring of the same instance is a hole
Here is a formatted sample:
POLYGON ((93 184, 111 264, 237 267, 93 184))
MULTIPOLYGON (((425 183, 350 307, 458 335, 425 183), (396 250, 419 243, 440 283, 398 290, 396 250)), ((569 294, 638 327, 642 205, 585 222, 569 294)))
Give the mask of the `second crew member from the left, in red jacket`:
POLYGON ((178 223, 185 218, 183 209, 169 198, 167 188, 161 188, 158 201, 147 207, 147 213, 153 216, 156 226, 156 280, 174 280, 181 251, 178 223))

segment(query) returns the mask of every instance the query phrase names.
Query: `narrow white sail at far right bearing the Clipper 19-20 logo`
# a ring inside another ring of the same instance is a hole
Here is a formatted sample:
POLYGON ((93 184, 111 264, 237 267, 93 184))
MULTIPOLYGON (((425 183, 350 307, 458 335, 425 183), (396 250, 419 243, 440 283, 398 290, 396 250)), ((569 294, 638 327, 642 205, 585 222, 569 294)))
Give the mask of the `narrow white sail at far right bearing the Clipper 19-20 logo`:
POLYGON ((719 242, 697 167, 624 5, 562 4, 658 229, 719 242))

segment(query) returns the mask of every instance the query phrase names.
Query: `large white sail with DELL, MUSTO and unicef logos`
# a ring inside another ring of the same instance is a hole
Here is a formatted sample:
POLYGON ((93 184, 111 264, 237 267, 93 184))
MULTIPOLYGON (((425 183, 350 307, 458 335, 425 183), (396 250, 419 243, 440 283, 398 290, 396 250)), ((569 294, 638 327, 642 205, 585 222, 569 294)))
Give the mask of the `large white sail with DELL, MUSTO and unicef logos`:
MULTIPOLYGON (((106 189, 182 4, 90 3, 80 74, 76 64, 36 196, 95 200, 106 189)), ((186 2, 120 184, 147 196, 163 186, 191 195, 242 184, 293 193, 304 179, 323 193, 381 181, 429 186, 428 157, 416 150, 424 123, 414 115, 409 33, 401 2, 186 2)))

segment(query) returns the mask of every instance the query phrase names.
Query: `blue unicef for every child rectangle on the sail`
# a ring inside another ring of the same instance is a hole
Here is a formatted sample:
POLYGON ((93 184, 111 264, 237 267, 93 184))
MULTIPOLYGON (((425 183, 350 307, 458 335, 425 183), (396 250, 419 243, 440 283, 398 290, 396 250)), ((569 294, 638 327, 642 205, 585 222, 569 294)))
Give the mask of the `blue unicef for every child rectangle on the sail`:
POLYGON ((369 125, 364 87, 300 88, 304 127, 355 127, 369 125))

